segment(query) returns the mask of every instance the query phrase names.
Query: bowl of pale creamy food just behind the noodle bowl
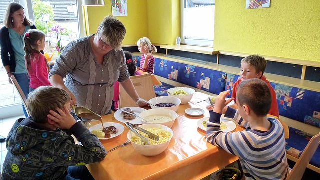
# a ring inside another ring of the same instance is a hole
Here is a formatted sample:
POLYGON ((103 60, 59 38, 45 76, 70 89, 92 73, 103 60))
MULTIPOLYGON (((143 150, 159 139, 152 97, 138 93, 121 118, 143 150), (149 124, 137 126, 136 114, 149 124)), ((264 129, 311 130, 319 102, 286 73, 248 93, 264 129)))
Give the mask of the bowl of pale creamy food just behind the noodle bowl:
POLYGON ((172 127, 178 114, 170 109, 149 109, 140 113, 142 124, 162 124, 172 127))

